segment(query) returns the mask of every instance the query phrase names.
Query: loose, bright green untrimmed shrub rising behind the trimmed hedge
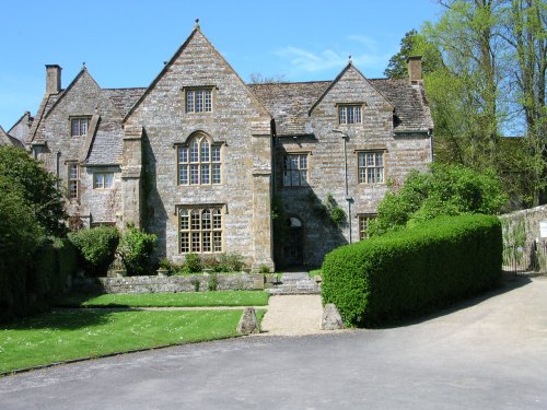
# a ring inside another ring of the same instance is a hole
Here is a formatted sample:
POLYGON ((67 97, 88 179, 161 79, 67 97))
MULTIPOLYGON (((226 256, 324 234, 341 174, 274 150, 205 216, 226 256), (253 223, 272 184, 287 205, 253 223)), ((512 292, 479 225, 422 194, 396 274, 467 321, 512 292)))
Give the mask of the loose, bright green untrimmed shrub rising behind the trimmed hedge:
POLYGON ((433 164, 431 172, 411 172, 398 191, 388 192, 371 221, 369 234, 382 235, 439 215, 499 213, 507 196, 496 173, 461 165, 433 164))

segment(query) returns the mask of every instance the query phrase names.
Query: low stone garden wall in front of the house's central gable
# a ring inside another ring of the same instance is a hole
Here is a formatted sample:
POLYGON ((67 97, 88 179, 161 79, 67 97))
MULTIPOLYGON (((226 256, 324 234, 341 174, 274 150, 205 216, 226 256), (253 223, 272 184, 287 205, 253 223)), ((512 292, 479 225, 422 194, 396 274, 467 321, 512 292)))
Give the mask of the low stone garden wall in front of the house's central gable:
MULTIPOLYGON (((264 274, 218 273, 218 291, 261 290, 264 274)), ((175 277, 119 277, 119 278, 74 278, 72 290, 77 292, 105 293, 176 293, 195 292, 195 281, 199 290, 207 291, 213 274, 202 273, 175 277)))

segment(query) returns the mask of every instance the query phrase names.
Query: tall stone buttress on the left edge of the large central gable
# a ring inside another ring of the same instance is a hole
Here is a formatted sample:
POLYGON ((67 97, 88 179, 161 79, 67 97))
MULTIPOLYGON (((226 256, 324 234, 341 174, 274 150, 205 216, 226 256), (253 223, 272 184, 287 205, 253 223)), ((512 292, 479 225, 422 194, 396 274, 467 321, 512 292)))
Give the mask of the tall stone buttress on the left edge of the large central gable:
POLYGON ((124 129, 124 156, 121 161, 123 222, 141 227, 142 202, 142 138, 141 127, 124 129))

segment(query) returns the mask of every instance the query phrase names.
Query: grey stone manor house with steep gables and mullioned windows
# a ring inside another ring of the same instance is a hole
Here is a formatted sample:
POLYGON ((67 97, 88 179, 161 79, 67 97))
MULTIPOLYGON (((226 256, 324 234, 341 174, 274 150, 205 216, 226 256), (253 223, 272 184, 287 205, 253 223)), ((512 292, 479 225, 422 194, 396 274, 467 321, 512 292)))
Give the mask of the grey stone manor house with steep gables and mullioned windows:
POLYGON ((72 227, 129 223, 158 257, 237 253, 254 268, 319 266, 366 237, 389 183, 432 161, 421 60, 409 79, 246 84, 201 33, 143 89, 102 89, 85 67, 0 140, 62 179, 72 227), (344 210, 333 223, 322 203, 344 210))

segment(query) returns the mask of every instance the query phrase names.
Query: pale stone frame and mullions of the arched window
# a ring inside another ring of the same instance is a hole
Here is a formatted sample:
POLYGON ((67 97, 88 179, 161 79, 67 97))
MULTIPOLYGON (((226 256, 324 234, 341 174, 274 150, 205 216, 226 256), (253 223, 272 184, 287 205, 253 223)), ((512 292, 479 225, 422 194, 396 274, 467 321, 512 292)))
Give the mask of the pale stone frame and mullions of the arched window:
POLYGON ((224 180, 224 142, 216 142, 202 131, 193 132, 184 143, 175 143, 176 148, 176 185, 178 186, 216 186, 224 180), (197 160, 193 161, 193 144, 198 142, 197 160), (208 143, 207 157, 202 143, 208 143), (194 172, 196 169, 196 173, 194 172), (208 181, 203 183, 203 171, 207 169, 208 181), (197 179, 194 179, 194 175, 197 179))

